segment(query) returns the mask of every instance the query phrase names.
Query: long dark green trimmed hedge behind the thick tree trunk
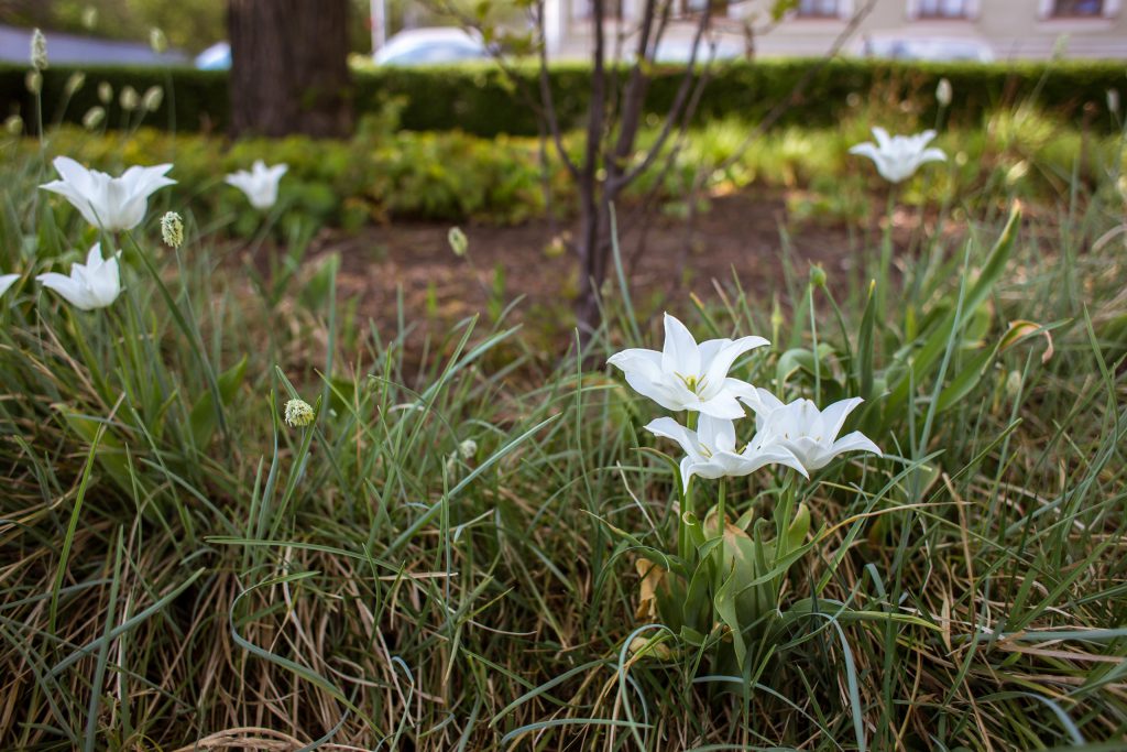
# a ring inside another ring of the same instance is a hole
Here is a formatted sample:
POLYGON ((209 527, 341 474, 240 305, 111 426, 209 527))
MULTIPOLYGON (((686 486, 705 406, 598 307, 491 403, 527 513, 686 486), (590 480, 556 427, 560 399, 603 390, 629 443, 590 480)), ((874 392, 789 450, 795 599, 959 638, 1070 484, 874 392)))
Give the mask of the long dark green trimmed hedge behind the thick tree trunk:
MULTIPOLYGON (((769 60, 733 63, 713 71, 701 100, 706 118, 739 116, 757 120, 787 97, 818 61, 769 60)), ((157 127, 175 122, 181 131, 224 131, 229 122, 227 73, 193 69, 89 67, 86 85, 65 107, 66 81, 76 68, 53 67, 44 72, 44 120, 79 122, 101 104, 98 85, 114 88, 107 108, 112 127, 127 123, 118 95, 132 86, 139 92, 172 81, 157 113, 145 124, 157 127), (170 113, 170 108, 175 112, 170 113), (172 116, 170 118, 170 115, 172 116)), ((683 70, 683 69, 681 69, 683 70)), ((659 116, 673 101, 681 70, 659 68, 646 99, 648 113, 659 116)), ((27 92, 27 69, 0 65, 0 114, 19 114, 35 122, 34 98, 27 92)), ((521 91, 536 91, 535 69, 517 70, 514 85, 495 67, 383 68, 353 72, 354 97, 360 114, 380 112, 389 103, 401 106, 400 124, 412 131, 462 130, 481 136, 502 133, 535 135, 536 116, 521 91)), ((1095 117, 1107 108, 1107 91, 1118 89, 1127 100, 1127 68, 1121 62, 1051 63, 899 63, 876 60, 834 60, 814 76, 800 100, 781 124, 826 126, 837 122, 846 103, 876 98, 880 104, 909 101, 924 122, 934 116, 934 90, 940 78, 955 90, 952 114, 962 122, 977 122, 984 112, 1033 99, 1039 106, 1074 120, 1091 120, 1098 127, 1110 118, 1095 117)), ((556 107, 565 127, 577 125, 587 107, 589 70, 583 64, 559 64, 551 71, 556 107)))

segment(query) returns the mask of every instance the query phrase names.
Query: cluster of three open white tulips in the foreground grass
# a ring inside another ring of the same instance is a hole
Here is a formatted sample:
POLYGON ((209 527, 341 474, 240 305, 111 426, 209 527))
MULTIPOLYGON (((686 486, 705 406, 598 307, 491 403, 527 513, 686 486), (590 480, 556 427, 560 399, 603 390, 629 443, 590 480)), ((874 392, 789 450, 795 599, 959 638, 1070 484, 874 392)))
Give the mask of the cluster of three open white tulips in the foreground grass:
POLYGON ((792 468, 805 477, 824 468, 844 452, 880 455, 864 434, 837 434, 860 398, 834 402, 824 410, 809 399, 783 404, 765 389, 728 375, 736 359, 767 345, 763 337, 709 339, 696 343, 685 326, 665 315, 662 352, 631 348, 607 361, 620 369, 639 393, 669 410, 699 413, 695 430, 672 417, 651 421, 646 430, 681 445, 684 490, 693 476, 724 478, 746 476, 769 465, 792 468), (735 421, 755 414, 755 435, 739 444, 735 421))

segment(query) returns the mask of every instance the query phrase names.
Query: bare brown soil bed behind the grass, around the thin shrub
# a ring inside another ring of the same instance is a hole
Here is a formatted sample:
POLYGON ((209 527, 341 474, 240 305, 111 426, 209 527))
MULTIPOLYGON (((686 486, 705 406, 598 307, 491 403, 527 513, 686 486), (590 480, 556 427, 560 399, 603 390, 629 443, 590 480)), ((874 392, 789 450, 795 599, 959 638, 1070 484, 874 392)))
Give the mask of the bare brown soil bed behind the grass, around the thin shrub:
MULTIPOLYGON (((571 229, 570 222, 463 225, 468 259, 451 251, 450 227, 397 222, 352 236, 329 233, 319 238, 314 253, 340 253, 340 297, 357 295, 360 312, 379 322, 396 320, 400 287, 407 321, 428 318, 428 308, 443 322, 483 312, 500 268, 505 302, 524 297, 517 317, 539 313, 548 322, 566 325, 559 328, 567 336, 578 290, 576 264, 562 246, 554 253, 549 247, 556 235, 571 229)), ((770 295, 783 284, 784 257, 800 281, 811 264, 820 264, 832 280, 843 282, 844 273, 855 268, 850 248, 861 241, 841 225, 789 223, 784 196, 778 192, 715 198, 698 218, 691 244, 681 218, 651 214, 639 220, 624 211, 619 227, 631 294, 644 311, 663 304, 684 309, 690 293, 713 298, 713 280, 727 286, 733 271, 746 291, 770 295)))

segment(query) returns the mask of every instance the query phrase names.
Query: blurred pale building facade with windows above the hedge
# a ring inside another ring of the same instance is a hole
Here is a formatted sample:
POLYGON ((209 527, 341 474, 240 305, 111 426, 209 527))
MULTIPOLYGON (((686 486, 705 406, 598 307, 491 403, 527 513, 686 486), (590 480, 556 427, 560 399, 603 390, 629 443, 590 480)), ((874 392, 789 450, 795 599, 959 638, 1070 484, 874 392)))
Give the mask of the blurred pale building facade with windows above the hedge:
MULTIPOLYGON (((691 46, 692 16, 708 9, 717 56, 822 56, 868 0, 798 0, 772 23, 772 0, 672 0, 681 17, 659 57, 691 46)), ((645 0, 605 0, 607 37, 629 50, 645 0)), ((1122 0, 875 0, 841 47, 846 54, 912 59, 1127 59, 1122 0)), ((584 57, 592 45, 592 0, 547 0, 544 32, 557 59, 584 57)), ((699 18, 699 16, 696 16, 699 18)))

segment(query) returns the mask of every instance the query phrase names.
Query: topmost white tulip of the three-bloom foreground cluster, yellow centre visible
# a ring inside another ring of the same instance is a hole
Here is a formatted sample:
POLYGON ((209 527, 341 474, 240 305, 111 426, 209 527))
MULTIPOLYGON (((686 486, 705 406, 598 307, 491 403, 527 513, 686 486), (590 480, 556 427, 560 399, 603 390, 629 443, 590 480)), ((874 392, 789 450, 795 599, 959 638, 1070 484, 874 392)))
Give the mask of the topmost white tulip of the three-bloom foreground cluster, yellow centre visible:
POLYGON ((622 370, 635 391, 668 410, 698 410, 730 419, 744 416, 736 397, 754 396, 755 388, 729 379, 728 369, 747 351, 766 344, 763 337, 740 337, 698 345, 685 325, 666 313, 660 353, 633 347, 615 353, 606 362, 622 370))

